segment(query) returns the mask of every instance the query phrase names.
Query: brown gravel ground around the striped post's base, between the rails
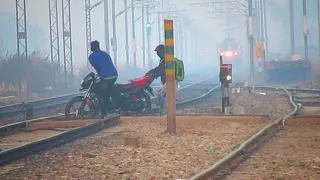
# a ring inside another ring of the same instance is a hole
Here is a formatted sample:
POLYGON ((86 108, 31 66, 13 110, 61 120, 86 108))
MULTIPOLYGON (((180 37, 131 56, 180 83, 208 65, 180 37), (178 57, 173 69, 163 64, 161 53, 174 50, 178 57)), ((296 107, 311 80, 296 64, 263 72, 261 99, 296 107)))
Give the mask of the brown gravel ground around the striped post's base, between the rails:
POLYGON ((170 135, 165 117, 122 118, 114 128, 1 167, 0 179, 188 178, 268 122, 261 117, 177 117, 177 134, 170 135))

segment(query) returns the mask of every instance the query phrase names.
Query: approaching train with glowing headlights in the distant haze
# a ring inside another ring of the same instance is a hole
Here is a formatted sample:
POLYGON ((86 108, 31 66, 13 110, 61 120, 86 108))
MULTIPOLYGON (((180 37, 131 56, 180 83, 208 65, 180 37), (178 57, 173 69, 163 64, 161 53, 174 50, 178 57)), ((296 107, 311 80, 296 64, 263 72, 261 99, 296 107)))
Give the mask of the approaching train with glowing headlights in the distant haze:
POLYGON ((223 63, 232 64, 234 72, 243 70, 242 46, 235 38, 225 38, 217 47, 218 54, 223 56, 223 63))

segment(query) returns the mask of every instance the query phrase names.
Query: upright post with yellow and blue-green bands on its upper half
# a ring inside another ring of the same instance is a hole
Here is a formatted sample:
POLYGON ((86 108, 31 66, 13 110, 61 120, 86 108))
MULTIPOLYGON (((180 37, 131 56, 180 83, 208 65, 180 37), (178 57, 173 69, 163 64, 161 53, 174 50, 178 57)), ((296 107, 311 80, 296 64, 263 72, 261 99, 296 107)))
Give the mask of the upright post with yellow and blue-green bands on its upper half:
POLYGON ((176 86, 174 72, 173 20, 164 20, 166 46, 166 94, 167 94, 167 131, 176 133, 176 86))

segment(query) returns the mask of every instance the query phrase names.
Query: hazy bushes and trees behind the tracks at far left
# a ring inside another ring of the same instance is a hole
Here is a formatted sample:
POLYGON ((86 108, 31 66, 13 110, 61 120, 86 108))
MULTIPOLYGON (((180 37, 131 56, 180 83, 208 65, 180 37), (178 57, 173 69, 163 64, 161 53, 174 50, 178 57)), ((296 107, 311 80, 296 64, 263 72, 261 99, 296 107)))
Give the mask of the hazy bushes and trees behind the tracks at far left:
MULTIPOLYGON (((1 51, 0 51, 1 53, 1 51)), ((30 55, 0 54, 0 95, 17 95, 19 91, 28 94, 61 94, 65 89, 64 74, 58 72, 59 66, 52 63, 49 56, 40 52, 30 55)), ((70 74, 68 74, 68 78, 70 74)))

